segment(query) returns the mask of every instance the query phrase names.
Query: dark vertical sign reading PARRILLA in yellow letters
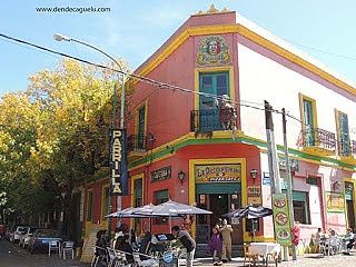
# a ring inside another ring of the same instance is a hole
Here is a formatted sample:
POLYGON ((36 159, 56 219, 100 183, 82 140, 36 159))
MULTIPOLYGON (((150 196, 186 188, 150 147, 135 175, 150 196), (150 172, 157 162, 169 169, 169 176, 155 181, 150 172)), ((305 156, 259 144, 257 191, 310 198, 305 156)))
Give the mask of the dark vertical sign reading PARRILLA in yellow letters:
POLYGON ((110 129, 109 138, 112 195, 128 195, 126 129, 110 129))

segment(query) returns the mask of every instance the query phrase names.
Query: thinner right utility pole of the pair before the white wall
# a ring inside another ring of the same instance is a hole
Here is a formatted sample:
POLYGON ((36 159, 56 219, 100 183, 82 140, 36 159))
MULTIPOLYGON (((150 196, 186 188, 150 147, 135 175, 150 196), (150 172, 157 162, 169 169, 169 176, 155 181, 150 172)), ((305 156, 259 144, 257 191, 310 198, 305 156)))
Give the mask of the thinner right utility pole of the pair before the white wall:
MULTIPOLYGON (((289 221, 290 229, 294 227, 294 210, 293 210, 293 180, 290 174, 290 165, 289 165, 289 154, 288 154, 288 144, 287 144, 287 119, 286 119, 286 110, 281 109, 281 118, 283 118, 283 141, 285 147, 285 160, 286 160, 286 170, 287 170, 287 199, 288 199, 288 208, 289 208, 289 221)), ((293 260, 297 259, 296 246, 291 244, 293 250, 293 260)))

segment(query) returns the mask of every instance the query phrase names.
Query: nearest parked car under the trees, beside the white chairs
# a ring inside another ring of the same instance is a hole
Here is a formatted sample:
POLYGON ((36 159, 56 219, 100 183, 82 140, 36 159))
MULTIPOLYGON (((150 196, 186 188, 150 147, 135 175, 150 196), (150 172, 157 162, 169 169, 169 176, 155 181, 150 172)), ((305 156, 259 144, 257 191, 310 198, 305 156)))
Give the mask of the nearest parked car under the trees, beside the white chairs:
POLYGON ((59 236, 59 233, 53 229, 37 229, 33 231, 30 237, 28 249, 30 253, 34 251, 48 251, 48 244, 50 241, 62 241, 62 238, 59 236))

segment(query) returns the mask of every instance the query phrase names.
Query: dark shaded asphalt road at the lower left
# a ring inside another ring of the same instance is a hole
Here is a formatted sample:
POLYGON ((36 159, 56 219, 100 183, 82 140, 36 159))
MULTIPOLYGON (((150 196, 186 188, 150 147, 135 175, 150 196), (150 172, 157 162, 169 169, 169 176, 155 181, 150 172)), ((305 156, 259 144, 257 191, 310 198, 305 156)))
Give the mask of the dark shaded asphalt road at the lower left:
POLYGON ((53 255, 29 254, 26 249, 7 240, 0 240, 0 267, 83 267, 78 260, 63 260, 53 255))

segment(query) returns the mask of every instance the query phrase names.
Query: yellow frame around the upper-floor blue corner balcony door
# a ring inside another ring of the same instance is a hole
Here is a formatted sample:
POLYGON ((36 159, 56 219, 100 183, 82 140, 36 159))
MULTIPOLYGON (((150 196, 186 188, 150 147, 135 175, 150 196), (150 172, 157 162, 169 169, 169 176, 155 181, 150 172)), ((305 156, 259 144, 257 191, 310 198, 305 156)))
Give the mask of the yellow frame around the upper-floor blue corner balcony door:
MULTIPOLYGON (((234 79, 234 67, 233 66, 222 66, 222 67, 208 67, 208 68, 196 68, 194 71, 194 90, 196 92, 199 92, 200 82, 199 82, 199 75, 200 73, 211 73, 211 72, 222 72, 228 71, 229 72, 229 97, 233 101, 236 101, 235 99, 235 79, 234 79)), ((194 106, 195 109, 199 109, 199 95, 194 95, 194 106)))

